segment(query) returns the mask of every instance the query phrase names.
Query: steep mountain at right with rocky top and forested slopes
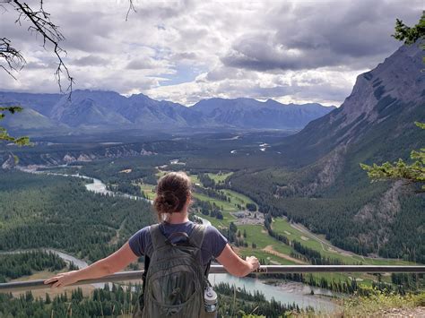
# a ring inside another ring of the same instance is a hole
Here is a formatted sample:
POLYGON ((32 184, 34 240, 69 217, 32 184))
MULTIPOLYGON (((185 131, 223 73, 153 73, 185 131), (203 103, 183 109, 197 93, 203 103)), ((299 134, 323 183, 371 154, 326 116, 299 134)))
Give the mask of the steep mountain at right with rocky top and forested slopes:
POLYGON ((281 168, 235 174, 231 185, 343 249, 425 262, 425 196, 403 181, 371 183, 360 168, 424 147, 414 125, 425 122, 422 56, 403 46, 360 74, 341 107, 273 145, 281 168))

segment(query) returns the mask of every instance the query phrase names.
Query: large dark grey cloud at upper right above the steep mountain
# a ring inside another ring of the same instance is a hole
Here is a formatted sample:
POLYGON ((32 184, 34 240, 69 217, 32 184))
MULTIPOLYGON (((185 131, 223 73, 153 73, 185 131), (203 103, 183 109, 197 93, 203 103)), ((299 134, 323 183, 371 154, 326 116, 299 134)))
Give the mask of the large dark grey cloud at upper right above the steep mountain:
POLYGON ((268 30, 243 34, 223 64, 257 71, 376 64, 399 46, 389 35, 395 17, 415 22, 421 1, 298 2, 269 14, 268 30))

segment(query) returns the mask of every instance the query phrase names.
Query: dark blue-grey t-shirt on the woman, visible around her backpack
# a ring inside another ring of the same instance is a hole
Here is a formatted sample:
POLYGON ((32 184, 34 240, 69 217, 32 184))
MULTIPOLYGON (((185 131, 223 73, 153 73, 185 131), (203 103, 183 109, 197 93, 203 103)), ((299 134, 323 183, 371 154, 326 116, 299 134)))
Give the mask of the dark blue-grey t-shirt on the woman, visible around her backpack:
MULTIPOLYGON (((169 222, 160 223, 160 231, 167 238, 171 233, 174 232, 186 232, 188 236, 192 232, 192 229, 195 227, 195 223, 192 221, 187 221, 185 223, 171 224, 169 222)), ((151 233, 149 231, 149 226, 140 229, 137 231, 134 236, 131 236, 128 240, 130 248, 133 253, 137 256, 142 256, 146 247, 152 245, 151 233)), ((178 241, 177 237, 177 241, 178 241)), ((181 238, 180 238, 181 239, 181 238)), ((222 236, 217 228, 212 226, 207 226, 205 229, 204 242, 201 246, 201 254, 204 262, 204 267, 211 261, 212 257, 220 256, 224 247, 227 244, 227 238, 222 236)), ((173 243, 177 243, 173 239, 173 243)))

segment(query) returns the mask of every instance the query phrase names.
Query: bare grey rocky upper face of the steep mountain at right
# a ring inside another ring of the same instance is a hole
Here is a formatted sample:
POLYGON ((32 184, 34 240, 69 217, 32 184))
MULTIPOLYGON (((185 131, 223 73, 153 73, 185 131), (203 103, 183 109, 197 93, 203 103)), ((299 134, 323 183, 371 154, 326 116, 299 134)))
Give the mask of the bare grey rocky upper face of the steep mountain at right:
POLYGON ((344 118, 340 129, 356 121, 373 125, 385 120, 392 107, 423 106, 422 56, 419 45, 403 46, 374 70, 360 74, 341 113, 332 120, 344 118))

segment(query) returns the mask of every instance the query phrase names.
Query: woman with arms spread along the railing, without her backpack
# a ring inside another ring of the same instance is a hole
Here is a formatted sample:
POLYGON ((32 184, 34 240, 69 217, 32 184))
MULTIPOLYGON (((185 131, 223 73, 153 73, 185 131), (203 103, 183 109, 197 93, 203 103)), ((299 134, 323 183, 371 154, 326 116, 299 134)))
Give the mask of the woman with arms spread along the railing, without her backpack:
MULTIPOLYGON (((160 231, 164 236, 169 237, 175 232, 186 232, 189 235, 195 227, 195 223, 188 219, 191 198, 191 182, 184 172, 171 172, 160 178, 153 205, 158 213, 160 231)), ((53 278, 46 279, 44 283, 52 284, 52 288, 61 288, 82 279, 97 279, 122 271, 128 264, 142 256, 148 248, 152 248, 152 239, 150 227, 145 227, 135 233, 114 254, 92 263, 85 269, 57 274, 53 278)), ((235 254, 227 239, 212 226, 208 226, 205 230, 201 254, 205 269, 212 257, 215 257, 230 274, 239 277, 246 276, 259 267, 255 256, 243 260, 235 254)))

